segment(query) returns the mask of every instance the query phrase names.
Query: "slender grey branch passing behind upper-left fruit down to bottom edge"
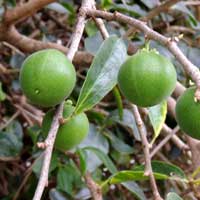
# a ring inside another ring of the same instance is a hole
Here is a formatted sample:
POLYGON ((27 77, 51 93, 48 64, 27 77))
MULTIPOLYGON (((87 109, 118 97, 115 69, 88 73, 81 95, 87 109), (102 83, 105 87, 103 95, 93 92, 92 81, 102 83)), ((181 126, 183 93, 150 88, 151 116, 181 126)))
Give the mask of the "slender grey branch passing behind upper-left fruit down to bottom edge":
MULTIPOLYGON (((82 8, 87 8, 87 7, 90 8, 90 1, 83 0, 82 8)), ((73 60, 75 52, 78 49, 78 45, 79 45, 79 42, 80 42, 82 34, 83 34, 83 30, 84 30, 84 26, 85 26, 85 22, 86 22, 85 16, 86 16, 85 12, 81 11, 80 16, 77 20, 75 32, 72 36, 72 44, 71 44, 68 54, 67 54, 67 57, 71 61, 73 60)), ((44 147, 46 147, 46 149, 44 151, 44 161, 43 161, 39 182, 38 182, 33 200, 41 199, 44 188, 48 183, 49 166, 50 166, 54 142, 56 139, 56 134, 57 134, 57 131, 59 128, 59 119, 62 118, 63 107, 64 107, 64 102, 62 102, 59 105, 59 107, 56 111, 56 114, 53 118, 53 122, 51 124, 51 128, 48 133, 48 136, 44 142, 44 147)))

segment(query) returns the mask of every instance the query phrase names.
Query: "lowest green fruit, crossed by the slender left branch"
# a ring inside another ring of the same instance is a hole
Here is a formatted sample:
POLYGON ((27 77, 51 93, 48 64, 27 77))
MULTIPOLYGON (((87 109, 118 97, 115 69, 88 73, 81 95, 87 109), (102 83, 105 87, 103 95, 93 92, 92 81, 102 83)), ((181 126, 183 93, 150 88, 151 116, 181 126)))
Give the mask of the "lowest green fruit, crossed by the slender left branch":
MULTIPOLYGON (((54 116, 54 109, 47 112, 42 123, 42 133, 46 137, 54 116)), ((67 118, 74 111, 71 105, 65 105, 63 117, 67 118)), ((55 147, 61 151, 67 151, 78 144, 87 136, 89 132, 89 121, 85 113, 73 116, 67 123, 61 125, 55 140, 55 147)))

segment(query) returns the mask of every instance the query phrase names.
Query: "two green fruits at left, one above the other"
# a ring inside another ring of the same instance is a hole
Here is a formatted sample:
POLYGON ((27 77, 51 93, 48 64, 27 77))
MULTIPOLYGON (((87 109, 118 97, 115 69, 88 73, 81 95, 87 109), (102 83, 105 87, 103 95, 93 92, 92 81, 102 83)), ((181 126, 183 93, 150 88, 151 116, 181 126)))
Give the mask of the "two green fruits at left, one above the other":
MULTIPOLYGON (((20 70, 20 84, 28 100, 38 106, 55 106, 72 92, 76 71, 67 57, 58 50, 41 50, 30 55, 20 70)), ((42 123, 42 133, 47 136, 55 109, 49 110, 42 123)), ((87 136, 89 122, 85 113, 73 115, 74 107, 64 105, 63 118, 67 123, 59 127, 55 147, 66 151, 74 148, 87 136)))

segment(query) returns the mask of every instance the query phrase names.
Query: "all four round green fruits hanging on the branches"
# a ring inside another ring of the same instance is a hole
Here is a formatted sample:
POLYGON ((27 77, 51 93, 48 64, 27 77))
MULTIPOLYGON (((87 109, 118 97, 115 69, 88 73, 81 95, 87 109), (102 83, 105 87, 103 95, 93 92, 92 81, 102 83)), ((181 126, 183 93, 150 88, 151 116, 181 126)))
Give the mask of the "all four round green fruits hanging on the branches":
MULTIPOLYGON (((173 64, 155 50, 142 49, 130 56, 121 66, 118 85, 124 96, 137 106, 159 104, 171 95, 176 86, 173 64)), ((23 63, 20 71, 22 91, 35 105, 52 107, 67 98, 76 82, 73 64, 58 50, 47 49, 33 53, 23 63)), ((189 88, 178 99, 176 118, 188 135, 200 139, 200 103, 194 101, 195 88, 189 88)), ((43 119, 42 132, 47 136, 55 109, 43 119)), ((55 141, 59 150, 69 150, 78 145, 89 130, 85 113, 74 115, 74 107, 65 104, 63 118, 55 141)))

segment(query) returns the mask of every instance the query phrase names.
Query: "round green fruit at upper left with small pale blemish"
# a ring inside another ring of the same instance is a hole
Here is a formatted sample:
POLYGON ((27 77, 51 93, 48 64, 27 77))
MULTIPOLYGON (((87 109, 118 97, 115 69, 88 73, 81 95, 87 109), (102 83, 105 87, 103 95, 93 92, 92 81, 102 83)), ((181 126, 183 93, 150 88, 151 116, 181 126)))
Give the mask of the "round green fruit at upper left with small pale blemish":
POLYGON ((31 103, 50 107, 70 95, 75 86, 76 72, 63 53, 46 49, 33 53, 24 61, 19 80, 31 103))

